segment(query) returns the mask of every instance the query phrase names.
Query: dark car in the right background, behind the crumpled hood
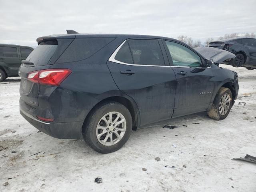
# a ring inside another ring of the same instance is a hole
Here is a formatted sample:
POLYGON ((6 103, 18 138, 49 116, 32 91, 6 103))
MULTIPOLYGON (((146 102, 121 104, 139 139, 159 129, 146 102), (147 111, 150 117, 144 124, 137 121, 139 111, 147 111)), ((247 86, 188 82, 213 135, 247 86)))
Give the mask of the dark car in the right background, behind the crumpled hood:
POLYGON ((255 38, 232 38, 213 41, 209 44, 215 47, 229 51, 236 55, 236 58, 230 64, 233 67, 246 67, 248 70, 256 69, 256 39, 255 38))

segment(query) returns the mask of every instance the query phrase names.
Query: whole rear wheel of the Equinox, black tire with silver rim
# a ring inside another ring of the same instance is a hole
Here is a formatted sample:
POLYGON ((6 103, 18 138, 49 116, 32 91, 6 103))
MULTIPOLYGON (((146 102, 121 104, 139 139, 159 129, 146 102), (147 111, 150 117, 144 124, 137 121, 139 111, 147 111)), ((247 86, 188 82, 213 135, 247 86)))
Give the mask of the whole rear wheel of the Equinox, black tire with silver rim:
POLYGON ((131 132, 132 116, 129 110, 118 102, 105 102, 100 106, 96 106, 96 108, 94 108, 89 114, 82 128, 84 141, 99 153, 112 153, 120 149, 129 139, 131 132), (113 112, 113 114, 111 122, 112 124, 110 126, 109 118, 111 112, 113 112), (116 121, 116 124, 121 122, 121 120, 122 122, 125 120, 125 122, 120 123, 119 125, 115 125, 114 123, 118 114, 120 114, 120 117, 118 118, 119 121, 116 121), (101 135, 103 132, 106 133, 101 135), (119 134, 119 138, 116 133, 119 134), (98 136, 101 136, 97 137, 97 134, 98 136), (104 144, 105 140, 106 142, 104 144))

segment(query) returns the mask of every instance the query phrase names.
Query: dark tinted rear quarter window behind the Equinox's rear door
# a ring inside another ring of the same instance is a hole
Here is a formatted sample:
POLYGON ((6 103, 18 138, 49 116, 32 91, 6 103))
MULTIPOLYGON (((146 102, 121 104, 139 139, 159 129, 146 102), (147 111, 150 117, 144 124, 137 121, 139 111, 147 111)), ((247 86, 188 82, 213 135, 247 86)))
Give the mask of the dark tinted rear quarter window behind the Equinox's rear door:
POLYGON ((76 38, 58 59, 58 63, 84 60, 98 52, 114 38, 76 38))

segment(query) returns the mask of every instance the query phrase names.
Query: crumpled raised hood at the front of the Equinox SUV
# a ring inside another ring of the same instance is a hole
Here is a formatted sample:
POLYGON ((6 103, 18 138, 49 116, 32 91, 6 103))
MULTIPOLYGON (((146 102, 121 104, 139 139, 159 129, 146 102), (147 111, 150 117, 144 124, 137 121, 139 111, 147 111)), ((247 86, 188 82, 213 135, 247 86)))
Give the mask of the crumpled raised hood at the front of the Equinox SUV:
POLYGON ((210 59, 216 64, 222 63, 226 60, 234 59, 236 57, 234 54, 228 51, 214 47, 196 47, 194 49, 206 59, 210 59))

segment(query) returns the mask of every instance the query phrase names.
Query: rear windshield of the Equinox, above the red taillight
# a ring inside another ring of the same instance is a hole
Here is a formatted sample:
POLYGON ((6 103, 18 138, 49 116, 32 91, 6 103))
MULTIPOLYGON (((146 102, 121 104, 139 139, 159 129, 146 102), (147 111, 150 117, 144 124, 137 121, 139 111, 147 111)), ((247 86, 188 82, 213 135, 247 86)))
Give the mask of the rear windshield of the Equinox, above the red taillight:
POLYGON ((26 60, 31 61, 35 66, 47 65, 58 46, 57 40, 41 42, 26 60))

